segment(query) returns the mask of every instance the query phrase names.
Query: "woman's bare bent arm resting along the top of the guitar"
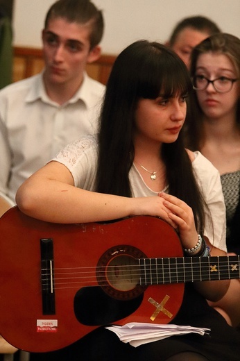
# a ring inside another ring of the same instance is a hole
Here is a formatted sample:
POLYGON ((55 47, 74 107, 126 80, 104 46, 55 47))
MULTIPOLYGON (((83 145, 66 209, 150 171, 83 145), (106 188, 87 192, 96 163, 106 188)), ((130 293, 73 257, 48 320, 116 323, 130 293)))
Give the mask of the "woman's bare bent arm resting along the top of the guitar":
POLYGON ((135 215, 161 217, 172 226, 159 197, 128 198, 74 187, 65 165, 50 162, 28 178, 16 195, 17 205, 31 217, 56 223, 109 221, 135 215), (51 207, 47 204, 51 203, 51 207), (58 210, 58 212, 56 212, 58 210))

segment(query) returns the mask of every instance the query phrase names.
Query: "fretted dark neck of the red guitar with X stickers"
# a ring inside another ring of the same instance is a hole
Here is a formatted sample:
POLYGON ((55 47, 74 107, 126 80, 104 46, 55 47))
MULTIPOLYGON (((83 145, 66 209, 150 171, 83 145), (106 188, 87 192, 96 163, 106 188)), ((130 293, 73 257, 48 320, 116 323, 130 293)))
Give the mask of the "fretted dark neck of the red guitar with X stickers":
POLYGON ((140 285, 240 278, 240 257, 140 258, 140 285))

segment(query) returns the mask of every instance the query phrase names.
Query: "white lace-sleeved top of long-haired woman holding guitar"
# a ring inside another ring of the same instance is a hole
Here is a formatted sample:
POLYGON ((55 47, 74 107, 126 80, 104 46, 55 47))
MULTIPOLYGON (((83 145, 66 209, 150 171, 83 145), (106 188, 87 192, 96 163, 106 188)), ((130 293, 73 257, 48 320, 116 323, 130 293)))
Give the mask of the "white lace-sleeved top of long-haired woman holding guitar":
MULTIPOLYGON (((196 180, 212 215, 212 222, 206 216, 205 235, 209 237, 214 246, 226 251, 225 205, 220 176, 217 169, 200 152, 195 152, 195 157, 192 165, 196 180), (212 225, 214 237, 212 235, 212 225)), ((62 163, 71 171, 76 187, 90 191, 96 190, 97 142, 95 137, 88 136, 72 142, 65 149, 62 149, 53 160, 62 163)), ((153 192, 144 183, 135 165, 132 165, 130 169, 129 178, 133 196, 157 195, 158 192, 153 192)), ((167 192, 167 189, 168 187, 164 189, 164 192, 167 192)))

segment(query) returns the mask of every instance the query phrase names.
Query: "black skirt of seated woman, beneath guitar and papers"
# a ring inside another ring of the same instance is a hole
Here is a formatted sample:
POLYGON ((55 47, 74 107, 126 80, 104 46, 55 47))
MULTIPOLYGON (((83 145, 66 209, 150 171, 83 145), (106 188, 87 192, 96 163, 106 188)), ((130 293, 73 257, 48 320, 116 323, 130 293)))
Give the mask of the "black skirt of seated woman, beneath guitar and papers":
POLYGON ((135 348, 101 327, 65 349, 31 353, 30 361, 164 361, 185 351, 200 353, 209 361, 240 361, 240 332, 228 326, 192 285, 185 286, 181 308, 171 323, 210 328, 211 332, 204 336, 190 333, 168 337, 135 348))

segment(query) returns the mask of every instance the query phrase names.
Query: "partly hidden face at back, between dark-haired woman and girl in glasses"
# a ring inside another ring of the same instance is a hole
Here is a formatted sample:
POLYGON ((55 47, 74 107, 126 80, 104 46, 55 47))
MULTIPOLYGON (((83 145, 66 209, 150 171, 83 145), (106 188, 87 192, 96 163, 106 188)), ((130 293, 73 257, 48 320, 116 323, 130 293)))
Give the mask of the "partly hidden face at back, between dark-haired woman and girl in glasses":
POLYGON ((207 37, 209 37, 209 33, 202 33, 194 28, 187 27, 180 31, 171 49, 178 54, 189 69, 192 49, 207 37))

